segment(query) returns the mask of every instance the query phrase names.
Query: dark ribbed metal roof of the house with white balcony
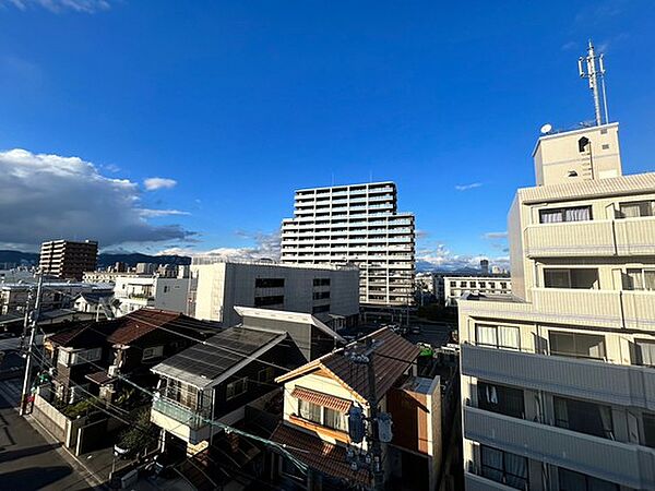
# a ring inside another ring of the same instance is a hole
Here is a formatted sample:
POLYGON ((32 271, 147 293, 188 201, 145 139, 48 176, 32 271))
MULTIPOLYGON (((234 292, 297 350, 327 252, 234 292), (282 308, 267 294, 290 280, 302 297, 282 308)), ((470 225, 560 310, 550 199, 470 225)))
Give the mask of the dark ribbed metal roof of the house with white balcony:
POLYGON ((229 327, 153 367, 196 388, 216 385, 285 339, 287 334, 229 327))

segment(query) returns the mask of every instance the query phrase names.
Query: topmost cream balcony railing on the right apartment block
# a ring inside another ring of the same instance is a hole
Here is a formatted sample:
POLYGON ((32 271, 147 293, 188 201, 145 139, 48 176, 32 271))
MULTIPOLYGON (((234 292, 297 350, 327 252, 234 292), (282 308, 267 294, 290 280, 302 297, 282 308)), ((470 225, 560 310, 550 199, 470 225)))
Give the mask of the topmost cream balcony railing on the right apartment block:
POLYGON ((528 258, 655 255, 655 217, 531 225, 528 258))

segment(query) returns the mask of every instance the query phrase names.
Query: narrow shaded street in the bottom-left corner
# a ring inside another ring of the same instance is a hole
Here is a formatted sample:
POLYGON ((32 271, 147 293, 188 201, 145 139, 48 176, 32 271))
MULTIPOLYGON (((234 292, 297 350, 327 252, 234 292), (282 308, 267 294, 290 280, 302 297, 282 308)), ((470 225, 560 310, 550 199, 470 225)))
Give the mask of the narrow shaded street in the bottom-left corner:
POLYGON ((22 379, 0 381, 0 488, 3 490, 87 490, 84 476, 63 457, 59 443, 41 436, 19 416, 22 379))

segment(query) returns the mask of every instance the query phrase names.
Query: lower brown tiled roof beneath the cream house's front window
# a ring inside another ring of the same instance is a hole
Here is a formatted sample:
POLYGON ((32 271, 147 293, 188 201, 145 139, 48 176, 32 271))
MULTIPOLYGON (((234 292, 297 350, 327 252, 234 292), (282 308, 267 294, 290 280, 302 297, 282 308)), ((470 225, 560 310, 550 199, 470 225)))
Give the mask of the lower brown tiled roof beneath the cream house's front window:
POLYGON ((343 446, 324 442, 284 423, 277 427, 271 440, 283 445, 294 457, 319 472, 350 483, 370 484, 369 474, 366 470, 350 468, 343 446))

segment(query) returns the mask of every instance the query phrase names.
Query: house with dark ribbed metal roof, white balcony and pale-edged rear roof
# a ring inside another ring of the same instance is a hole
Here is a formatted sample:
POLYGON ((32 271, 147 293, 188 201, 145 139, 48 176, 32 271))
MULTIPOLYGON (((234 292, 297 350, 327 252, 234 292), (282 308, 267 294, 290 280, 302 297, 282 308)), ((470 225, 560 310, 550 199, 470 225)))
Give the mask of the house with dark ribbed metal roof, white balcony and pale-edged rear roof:
POLYGON ((311 314, 237 309, 239 325, 153 367, 160 382, 151 419, 165 447, 184 445, 188 455, 207 450, 224 424, 243 419, 246 406, 279 392, 275 376, 343 344, 311 314))

